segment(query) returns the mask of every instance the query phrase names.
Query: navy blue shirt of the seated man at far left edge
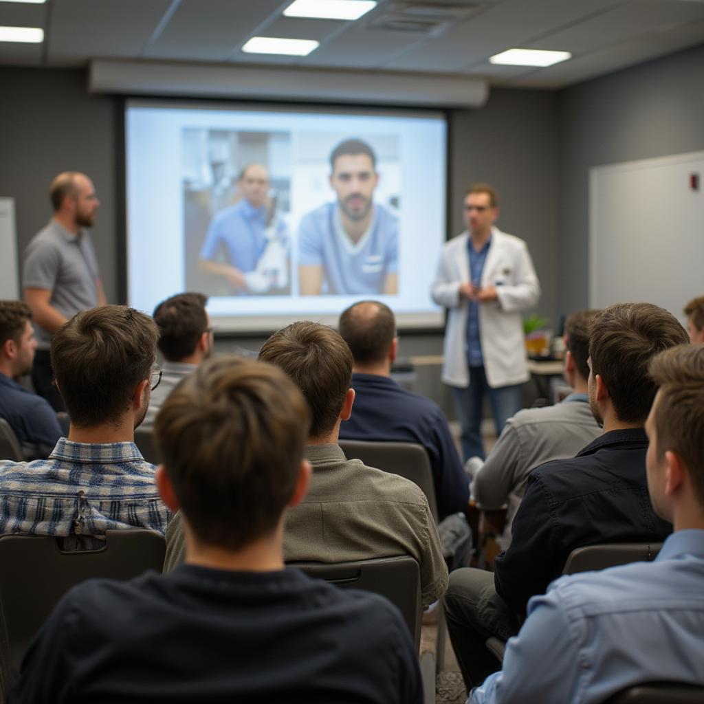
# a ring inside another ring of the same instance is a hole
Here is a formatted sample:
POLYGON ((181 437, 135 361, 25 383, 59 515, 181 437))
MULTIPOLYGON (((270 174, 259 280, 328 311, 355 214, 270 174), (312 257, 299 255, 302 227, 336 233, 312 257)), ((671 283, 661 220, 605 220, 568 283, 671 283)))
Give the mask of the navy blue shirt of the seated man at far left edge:
POLYGON ((0 417, 10 424, 28 459, 48 457, 64 434, 46 398, 4 374, 0 374, 0 417))

